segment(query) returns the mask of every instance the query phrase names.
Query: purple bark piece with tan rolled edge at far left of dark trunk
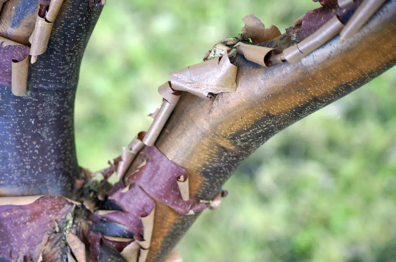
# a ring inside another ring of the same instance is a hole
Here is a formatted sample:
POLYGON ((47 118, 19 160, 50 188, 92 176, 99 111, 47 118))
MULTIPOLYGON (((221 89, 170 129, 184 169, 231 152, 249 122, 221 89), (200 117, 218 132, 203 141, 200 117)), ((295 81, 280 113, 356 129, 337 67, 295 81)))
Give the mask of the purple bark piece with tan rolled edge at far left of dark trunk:
POLYGON ((0 83, 13 94, 26 94, 30 48, 0 36, 0 83))

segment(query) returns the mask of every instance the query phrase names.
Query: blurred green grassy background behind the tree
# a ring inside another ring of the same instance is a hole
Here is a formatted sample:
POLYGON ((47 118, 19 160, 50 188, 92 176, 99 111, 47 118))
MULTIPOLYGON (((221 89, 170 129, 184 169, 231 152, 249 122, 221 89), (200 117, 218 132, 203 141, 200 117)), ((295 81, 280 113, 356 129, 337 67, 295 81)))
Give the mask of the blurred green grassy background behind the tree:
MULTIPOLYGON (((98 170, 160 106, 169 72, 202 61, 254 13, 281 32, 310 0, 109 0, 76 98, 80 165, 98 170), (98 74, 98 72, 100 74, 98 74)), ((178 245, 185 262, 396 261, 396 68, 251 155, 178 245)))

